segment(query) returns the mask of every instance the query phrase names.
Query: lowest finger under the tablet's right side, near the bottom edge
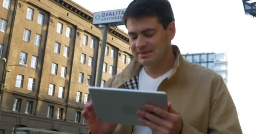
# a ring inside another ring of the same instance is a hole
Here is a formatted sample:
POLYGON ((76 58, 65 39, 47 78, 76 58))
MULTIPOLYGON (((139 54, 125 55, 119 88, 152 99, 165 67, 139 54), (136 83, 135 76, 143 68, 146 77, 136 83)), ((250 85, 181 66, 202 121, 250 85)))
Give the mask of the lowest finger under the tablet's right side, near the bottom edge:
POLYGON ((165 128, 163 128, 162 126, 158 126, 157 124, 155 124, 152 121, 148 121, 146 119, 139 119, 139 122, 141 124, 144 124, 145 126, 149 127, 150 129, 152 129, 152 131, 154 131, 155 133, 159 133, 159 134, 164 134, 164 132, 166 131, 165 128))

